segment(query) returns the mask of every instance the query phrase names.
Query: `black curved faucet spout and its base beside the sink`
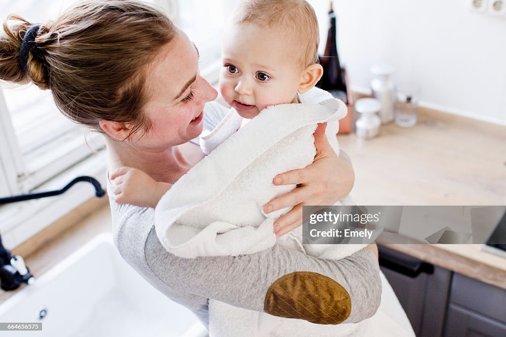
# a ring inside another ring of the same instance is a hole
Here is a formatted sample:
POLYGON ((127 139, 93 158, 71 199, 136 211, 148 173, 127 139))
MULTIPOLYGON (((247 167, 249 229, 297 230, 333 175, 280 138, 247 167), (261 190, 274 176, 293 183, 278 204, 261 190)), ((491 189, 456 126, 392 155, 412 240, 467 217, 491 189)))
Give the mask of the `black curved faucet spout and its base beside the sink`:
MULTIPOLYGON (((101 198, 105 195, 105 191, 102 189, 100 183, 95 178, 82 176, 73 179, 61 190, 30 193, 7 198, 0 198, 0 205, 11 202, 18 202, 60 195, 62 193, 65 193, 75 183, 81 181, 91 183, 95 187, 95 196, 97 196, 98 198, 101 198)), ((0 281, 1 281, 0 287, 2 287, 2 289, 4 290, 14 290, 23 283, 32 284, 35 281, 35 278, 33 277, 32 274, 30 274, 30 271, 26 267, 23 258, 17 255, 16 256, 11 255, 11 251, 4 247, 1 235, 0 235, 0 281)))

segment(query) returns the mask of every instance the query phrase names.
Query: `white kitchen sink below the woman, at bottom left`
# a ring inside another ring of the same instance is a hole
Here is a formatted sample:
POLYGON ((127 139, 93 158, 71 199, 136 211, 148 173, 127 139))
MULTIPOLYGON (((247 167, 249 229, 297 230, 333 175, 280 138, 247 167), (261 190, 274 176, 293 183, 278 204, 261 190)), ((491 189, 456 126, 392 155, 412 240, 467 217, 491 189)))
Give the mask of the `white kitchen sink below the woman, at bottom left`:
POLYGON ((169 300, 119 255, 109 233, 79 248, 0 305, 0 322, 42 323, 23 337, 207 336, 191 311, 169 300), (40 319, 41 311, 47 315, 40 319))

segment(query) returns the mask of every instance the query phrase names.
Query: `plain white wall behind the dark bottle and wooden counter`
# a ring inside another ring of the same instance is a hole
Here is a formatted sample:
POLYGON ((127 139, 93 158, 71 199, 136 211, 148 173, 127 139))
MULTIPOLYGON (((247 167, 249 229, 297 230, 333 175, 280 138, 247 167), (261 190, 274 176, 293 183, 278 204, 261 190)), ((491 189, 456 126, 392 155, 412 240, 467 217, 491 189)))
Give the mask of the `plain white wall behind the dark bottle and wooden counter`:
MULTIPOLYGON (((324 47, 329 1, 309 1, 324 47)), ((506 124, 506 17, 469 10, 470 0, 334 0, 338 48, 352 89, 367 92, 370 65, 394 65, 399 89, 421 105, 506 124)))

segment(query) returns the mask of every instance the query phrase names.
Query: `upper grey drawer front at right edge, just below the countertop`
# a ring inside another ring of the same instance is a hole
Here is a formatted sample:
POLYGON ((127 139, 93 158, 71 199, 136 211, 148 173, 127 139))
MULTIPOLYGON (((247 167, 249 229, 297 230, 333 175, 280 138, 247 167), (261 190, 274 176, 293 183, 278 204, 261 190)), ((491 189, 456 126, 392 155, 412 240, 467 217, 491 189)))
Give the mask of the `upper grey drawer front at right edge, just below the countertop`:
POLYGON ((454 274, 450 303, 506 324, 506 290, 504 289, 454 274))

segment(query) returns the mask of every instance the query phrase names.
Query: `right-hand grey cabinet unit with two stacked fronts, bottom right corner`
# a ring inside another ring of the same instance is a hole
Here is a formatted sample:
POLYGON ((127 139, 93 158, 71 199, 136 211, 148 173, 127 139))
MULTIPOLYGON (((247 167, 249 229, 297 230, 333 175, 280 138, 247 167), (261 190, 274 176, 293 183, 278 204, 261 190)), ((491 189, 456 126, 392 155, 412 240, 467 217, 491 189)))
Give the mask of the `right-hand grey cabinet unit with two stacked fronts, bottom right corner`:
POLYGON ((445 336, 506 336, 506 290, 454 274, 445 336))

